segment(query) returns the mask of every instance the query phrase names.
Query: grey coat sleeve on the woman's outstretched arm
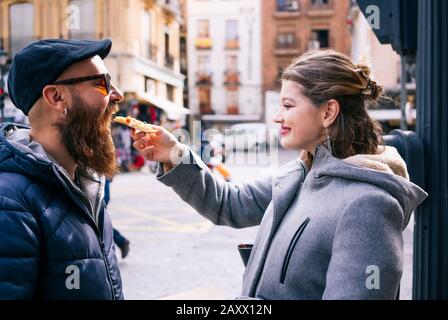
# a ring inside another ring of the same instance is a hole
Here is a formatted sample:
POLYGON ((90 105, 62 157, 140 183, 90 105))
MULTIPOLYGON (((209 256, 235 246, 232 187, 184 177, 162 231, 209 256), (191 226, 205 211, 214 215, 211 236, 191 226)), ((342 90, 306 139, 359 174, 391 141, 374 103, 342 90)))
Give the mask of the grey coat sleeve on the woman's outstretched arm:
POLYGON ((224 183, 215 178, 189 148, 182 162, 157 179, 171 187, 185 202, 217 225, 245 228, 260 224, 272 200, 271 177, 253 183, 224 183))

